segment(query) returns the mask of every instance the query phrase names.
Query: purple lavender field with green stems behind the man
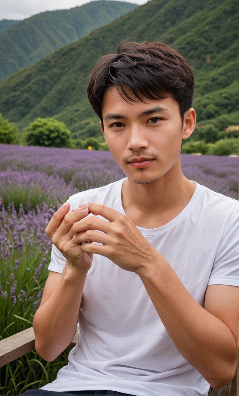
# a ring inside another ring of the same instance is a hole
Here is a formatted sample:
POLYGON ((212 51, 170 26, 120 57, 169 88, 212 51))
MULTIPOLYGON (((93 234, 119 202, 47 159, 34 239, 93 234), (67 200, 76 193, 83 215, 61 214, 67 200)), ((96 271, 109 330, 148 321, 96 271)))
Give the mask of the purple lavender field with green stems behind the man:
MULTIPOLYGON (((238 158, 182 154, 182 169, 189 179, 238 199, 238 158)), ((32 324, 48 276, 51 242, 44 229, 55 209, 77 191, 122 177, 108 151, 0 145, 0 339, 32 324)), ((66 359, 49 366, 31 352, 2 369, 0 393, 43 386, 66 359)))

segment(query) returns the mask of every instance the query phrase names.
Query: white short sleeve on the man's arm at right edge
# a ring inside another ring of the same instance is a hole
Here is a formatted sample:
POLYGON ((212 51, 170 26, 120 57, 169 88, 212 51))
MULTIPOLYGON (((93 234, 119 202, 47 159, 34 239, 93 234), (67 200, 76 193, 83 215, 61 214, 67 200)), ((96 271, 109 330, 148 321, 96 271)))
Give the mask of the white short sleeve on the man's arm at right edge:
POLYGON ((239 211, 231 218, 217 250, 210 285, 239 286, 239 211))

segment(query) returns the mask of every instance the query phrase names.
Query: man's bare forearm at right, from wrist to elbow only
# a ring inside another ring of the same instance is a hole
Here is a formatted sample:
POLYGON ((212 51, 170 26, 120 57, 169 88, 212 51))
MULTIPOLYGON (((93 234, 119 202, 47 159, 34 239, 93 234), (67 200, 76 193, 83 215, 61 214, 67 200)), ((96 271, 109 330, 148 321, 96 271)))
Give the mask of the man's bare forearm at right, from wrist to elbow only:
POLYGON ((160 254, 146 267, 140 278, 174 345, 210 385, 224 386, 237 364, 230 329, 195 301, 160 254))

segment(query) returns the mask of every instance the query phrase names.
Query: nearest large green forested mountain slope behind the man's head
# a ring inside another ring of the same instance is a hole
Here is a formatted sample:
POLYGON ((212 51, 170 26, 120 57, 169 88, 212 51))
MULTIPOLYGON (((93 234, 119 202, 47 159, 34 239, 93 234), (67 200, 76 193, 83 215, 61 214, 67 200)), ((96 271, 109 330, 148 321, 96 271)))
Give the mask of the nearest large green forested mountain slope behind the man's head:
POLYGON ((19 128, 53 116, 73 137, 100 135, 86 95, 89 75, 99 57, 130 37, 166 42, 187 59, 199 124, 239 124, 238 14, 237 0, 151 0, 0 82, 0 111, 19 128))

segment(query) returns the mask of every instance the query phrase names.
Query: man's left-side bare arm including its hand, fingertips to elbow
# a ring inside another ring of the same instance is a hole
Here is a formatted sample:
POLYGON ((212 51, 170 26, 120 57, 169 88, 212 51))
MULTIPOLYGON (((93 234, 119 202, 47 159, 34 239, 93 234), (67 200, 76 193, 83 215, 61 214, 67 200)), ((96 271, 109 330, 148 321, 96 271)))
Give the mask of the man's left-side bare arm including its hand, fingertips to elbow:
MULTIPOLYGON (((84 208, 82 208, 84 209, 84 208)), ((40 307, 33 320, 36 351, 48 361, 54 360, 71 343, 76 332, 78 312, 92 253, 73 244, 69 231, 73 223, 88 215, 69 204, 61 207, 50 220, 46 233, 66 258, 63 273, 50 272, 40 307)))

